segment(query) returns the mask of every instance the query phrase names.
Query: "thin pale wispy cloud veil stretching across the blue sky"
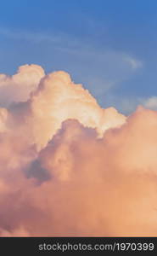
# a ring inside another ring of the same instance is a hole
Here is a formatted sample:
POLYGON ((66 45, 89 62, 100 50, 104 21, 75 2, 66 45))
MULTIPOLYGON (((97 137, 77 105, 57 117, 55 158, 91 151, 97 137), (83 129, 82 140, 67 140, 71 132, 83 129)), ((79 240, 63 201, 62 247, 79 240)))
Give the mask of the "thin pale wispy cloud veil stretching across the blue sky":
MULTIPOLYGON (((105 101, 104 94, 107 91, 120 86, 121 82, 129 79, 137 73, 138 68, 143 67, 142 61, 131 54, 106 46, 98 47, 89 38, 73 37, 62 32, 29 32, 3 27, 0 27, 0 35, 16 40, 16 45, 21 45, 21 40, 32 45, 30 49, 33 49, 33 52, 34 44, 40 46, 47 59, 47 65, 49 63, 51 66, 52 60, 55 61, 56 58, 55 62, 61 62, 58 67, 65 67, 76 81, 86 84, 87 89, 98 97, 99 102, 105 101)), ((38 64, 41 52, 36 53, 37 61, 32 58, 33 52, 30 60, 33 59, 33 63, 38 64)))

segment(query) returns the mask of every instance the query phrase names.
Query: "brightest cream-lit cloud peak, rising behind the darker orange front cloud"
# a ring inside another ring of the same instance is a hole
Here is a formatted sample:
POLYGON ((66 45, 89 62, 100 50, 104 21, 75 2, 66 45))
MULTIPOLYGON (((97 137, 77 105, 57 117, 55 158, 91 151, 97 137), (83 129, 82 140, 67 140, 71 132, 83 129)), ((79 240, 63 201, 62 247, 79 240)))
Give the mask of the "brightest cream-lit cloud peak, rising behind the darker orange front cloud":
POLYGON ((37 148, 48 143, 65 119, 78 119, 83 125, 96 129, 99 136, 126 119, 115 108, 100 108, 88 90, 74 84, 63 71, 42 78, 28 102, 15 106, 11 113, 14 125, 21 123, 21 136, 25 131, 37 148))

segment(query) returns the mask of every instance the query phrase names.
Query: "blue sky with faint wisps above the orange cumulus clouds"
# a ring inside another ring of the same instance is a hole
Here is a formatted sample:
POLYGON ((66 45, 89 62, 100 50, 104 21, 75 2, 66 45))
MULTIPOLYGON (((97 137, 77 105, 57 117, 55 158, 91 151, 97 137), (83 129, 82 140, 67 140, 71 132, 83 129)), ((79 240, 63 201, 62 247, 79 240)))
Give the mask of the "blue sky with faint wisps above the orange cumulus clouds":
POLYGON ((69 72, 104 108, 147 106, 157 96, 157 1, 1 0, 0 73, 26 63, 69 72))

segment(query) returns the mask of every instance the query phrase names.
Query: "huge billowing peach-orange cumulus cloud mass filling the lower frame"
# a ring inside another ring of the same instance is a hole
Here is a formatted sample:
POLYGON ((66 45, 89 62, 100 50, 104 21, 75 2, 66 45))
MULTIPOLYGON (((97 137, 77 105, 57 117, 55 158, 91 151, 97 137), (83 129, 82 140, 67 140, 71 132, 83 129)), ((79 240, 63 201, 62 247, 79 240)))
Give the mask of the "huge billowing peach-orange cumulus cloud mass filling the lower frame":
POLYGON ((0 108, 0 236, 156 236, 157 113, 100 108, 63 71, 20 73, 29 95, 0 108))

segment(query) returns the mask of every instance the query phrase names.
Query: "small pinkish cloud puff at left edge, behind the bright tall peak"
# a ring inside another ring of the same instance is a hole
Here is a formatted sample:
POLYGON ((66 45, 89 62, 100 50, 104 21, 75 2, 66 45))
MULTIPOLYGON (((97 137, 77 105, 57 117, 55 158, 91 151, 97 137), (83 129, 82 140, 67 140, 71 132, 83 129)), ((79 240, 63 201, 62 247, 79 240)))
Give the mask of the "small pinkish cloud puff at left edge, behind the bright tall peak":
POLYGON ((13 76, 1 73, 0 106, 8 107, 13 102, 25 102, 44 75, 42 67, 38 65, 21 66, 13 76))

